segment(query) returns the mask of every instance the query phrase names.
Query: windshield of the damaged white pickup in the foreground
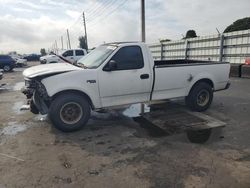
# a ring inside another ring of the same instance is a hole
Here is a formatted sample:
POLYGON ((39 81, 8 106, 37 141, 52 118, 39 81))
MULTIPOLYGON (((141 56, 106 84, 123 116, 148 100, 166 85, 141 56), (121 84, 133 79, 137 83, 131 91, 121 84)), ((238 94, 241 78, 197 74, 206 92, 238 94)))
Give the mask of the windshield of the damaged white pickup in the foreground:
POLYGON ((99 67, 116 48, 116 46, 99 46, 81 58, 77 62, 77 65, 88 69, 95 69, 99 67))

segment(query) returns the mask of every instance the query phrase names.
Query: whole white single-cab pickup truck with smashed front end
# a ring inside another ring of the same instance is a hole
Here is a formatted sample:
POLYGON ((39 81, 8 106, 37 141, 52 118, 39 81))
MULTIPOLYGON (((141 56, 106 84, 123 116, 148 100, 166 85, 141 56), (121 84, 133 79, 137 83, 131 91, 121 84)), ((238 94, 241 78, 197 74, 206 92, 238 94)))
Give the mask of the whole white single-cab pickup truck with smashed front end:
POLYGON ((101 45, 78 61, 38 65, 23 72, 33 113, 49 114, 54 126, 82 128, 92 110, 185 97, 195 111, 206 110, 213 92, 229 87, 229 63, 154 61, 144 43, 101 45))

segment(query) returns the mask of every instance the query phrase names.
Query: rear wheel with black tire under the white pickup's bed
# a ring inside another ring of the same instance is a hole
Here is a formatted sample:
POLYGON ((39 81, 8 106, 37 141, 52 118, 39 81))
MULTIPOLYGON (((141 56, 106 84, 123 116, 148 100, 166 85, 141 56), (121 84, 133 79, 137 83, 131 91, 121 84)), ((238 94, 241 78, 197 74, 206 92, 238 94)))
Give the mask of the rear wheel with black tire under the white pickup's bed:
POLYGON ((205 83, 199 82, 186 97, 186 105, 193 111, 202 112, 209 108, 213 101, 213 89, 205 83))

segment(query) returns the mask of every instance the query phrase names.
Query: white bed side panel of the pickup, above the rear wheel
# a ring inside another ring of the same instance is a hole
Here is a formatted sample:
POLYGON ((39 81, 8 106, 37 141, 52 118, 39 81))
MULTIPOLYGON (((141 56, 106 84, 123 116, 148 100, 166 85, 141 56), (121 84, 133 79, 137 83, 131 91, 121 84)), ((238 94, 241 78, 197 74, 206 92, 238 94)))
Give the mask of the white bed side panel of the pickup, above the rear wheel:
POLYGON ((229 64, 166 66, 155 68, 153 100, 187 96, 198 80, 209 79, 214 90, 224 89, 228 82, 229 64), (190 77, 192 80, 189 81, 190 77))

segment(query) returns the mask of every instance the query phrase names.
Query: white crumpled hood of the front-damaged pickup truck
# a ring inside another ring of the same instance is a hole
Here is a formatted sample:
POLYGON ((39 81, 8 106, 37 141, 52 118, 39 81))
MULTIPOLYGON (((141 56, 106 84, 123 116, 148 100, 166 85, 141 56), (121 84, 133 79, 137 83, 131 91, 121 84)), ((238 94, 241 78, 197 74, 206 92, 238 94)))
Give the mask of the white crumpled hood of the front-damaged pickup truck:
POLYGON ((25 69, 23 71, 23 76, 26 78, 34 78, 37 76, 57 74, 74 70, 82 70, 82 69, 74 65, 71 65, 69 63, 45 64, 25 69))

